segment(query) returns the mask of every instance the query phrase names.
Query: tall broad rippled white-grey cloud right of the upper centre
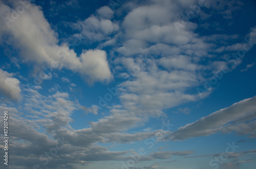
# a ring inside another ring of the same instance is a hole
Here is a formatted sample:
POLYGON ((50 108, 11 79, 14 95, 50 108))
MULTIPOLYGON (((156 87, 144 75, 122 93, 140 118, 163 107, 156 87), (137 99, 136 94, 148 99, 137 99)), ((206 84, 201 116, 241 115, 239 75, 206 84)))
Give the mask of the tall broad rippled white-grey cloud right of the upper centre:
MULTIPOLYGON (((219 3, 207 3, 206 8, 227 10, 227 16, 228 11, 239 10, 241 5, 235 1, 230 2, 234 7, 219 3)), ((120 43, 113 45, 113 52, 119 54, 113 64, 120 76, 129 75, 129 79, 119 85, 119 98, 125 109, 160 116, 164 114, 163 109, 205 98, 214 87, 202 93, 195 88, 231 65, 226 56, 217 57, 219 53, 243 47, 241 42, 230 43, 238 41, 237 34, 200 36, 195 33, 197 23, 189 21, 178 32, 174 22, 179 21, 181 15, 177 13, 190 9, 189 5, 151 1, 137 4, 124 17, 120 26, 123 32, 114 37, 120 43)), ((253 29, 248 35, 252 32, 253 29)))

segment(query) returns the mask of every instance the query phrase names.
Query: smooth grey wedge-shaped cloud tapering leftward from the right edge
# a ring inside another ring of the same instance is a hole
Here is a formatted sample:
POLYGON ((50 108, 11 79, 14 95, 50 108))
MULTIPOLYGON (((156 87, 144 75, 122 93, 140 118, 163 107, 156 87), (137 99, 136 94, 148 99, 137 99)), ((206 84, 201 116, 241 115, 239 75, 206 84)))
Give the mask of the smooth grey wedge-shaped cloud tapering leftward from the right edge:
MULTIPOLYGON (((237 120, 241 117, 244 117, 248 114, 255 113, 256 110, 256 96, 253 98, 242 100, 238 103, 234 103, 233 105, 218 110, 214 113, 209 114, 206 117, 202 117, 194 123, 187 124, 186 126, 180 127, 177 131, 167 136, 167 139, 172 140, 184 140, 187 138, 199 137, 199 136, 208 136, 210 134, 217 133, 218 131, 226 131, 226 130, 238 130, 237 127, 243 126, 239 124, 238 126, 227 126, 230 122, 237 120)), ((246 128, 253 129, 255 125, 254 122, 251 122, 251 125, 246 128)), ((240 130, 238 130, 239 132, 240 130)), ((240 132, 241 133, 241 132, 240 132)), ((242 132, 243 133, 243 132, 242 132)))

